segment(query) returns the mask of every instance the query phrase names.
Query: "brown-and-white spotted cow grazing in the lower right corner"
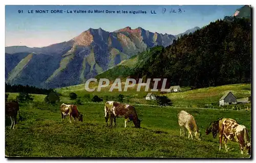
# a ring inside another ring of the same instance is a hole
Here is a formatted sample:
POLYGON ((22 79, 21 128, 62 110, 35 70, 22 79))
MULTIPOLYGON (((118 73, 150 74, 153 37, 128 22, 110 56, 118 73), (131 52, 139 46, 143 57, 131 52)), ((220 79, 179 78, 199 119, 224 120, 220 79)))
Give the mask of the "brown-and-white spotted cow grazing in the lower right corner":
POLYGON ((239 144, 241 154, 244 150, 247 150, 247 154, 251 154, 251 142, 249 140, 248 130, 244 125, 239 124, 237 121, 229 118, 223 118, 219 121, 219 143, 221 150, 222 138, 225 144, 225 149, 227 148, 227 140, 236 142, 239 144))

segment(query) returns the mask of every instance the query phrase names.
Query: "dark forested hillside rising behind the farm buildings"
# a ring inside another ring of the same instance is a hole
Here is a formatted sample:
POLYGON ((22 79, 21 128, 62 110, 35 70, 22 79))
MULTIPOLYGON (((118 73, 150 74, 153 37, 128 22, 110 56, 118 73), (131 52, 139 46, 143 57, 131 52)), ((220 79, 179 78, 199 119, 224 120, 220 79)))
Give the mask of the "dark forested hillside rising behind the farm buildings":
MULTIPOLYGON (((106 74, 108 71, 100 76, 111 77, 106 74)), ((135 66, 126 67, 125 73, 119 75, 168 78, 171 85, 194 88, 250 83, 250 20, 211 22, 193 34, 174 40, 166 48, 157 46, 139 53, 135 66)))

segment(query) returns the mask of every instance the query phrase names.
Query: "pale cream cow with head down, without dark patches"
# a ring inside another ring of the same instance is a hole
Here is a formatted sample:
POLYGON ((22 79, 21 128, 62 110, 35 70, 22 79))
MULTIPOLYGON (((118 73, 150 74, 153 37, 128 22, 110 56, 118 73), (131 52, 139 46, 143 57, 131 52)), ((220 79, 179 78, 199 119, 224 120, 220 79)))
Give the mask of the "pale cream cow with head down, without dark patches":
POLYGON ((178 123, 180 125, 180 136, 181 136, 181 130, 183 130, 185 133, 185 128, 186 128, 188 130, 188 138, 191 136, 191 139, 193 139, 192 133, 194 132, 196 139, 198 139, 199 141, 202 140, 197 122, 195 121, 192 115, 190 115, 185 111, 180 111, 178 113, 178 123))

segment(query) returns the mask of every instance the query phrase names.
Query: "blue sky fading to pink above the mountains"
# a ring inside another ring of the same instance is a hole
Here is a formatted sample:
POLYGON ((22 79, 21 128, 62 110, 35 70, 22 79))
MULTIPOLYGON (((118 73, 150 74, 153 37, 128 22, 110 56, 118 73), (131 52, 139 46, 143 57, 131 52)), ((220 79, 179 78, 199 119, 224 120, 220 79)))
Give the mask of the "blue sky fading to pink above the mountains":
POLYGON ((241 5, 6 6, 5 46, 48 46, 69 41, 90 28, 113 32, 130 26, 132 29, 141 27, 153 33, 177 35, 195 26, 202 28, 211 21, 231 16, 241 7, 241 5), (181 13, 178 12, 179 9, 181 13), (35 13, 35 10, 49 10, 49 13, 35 13), (51 13, 51 10, 62 10, 63 13, 51 13), (74 10, 83 10, 87 13, 74 13, 74 10), (88 10, 93 12, 103 10, 104 13, 88 13, 88 10), (106 13, 106 10, 115 13, 106 13), (117 13, 122 10, 145 11, 146 14, 117 13), (176 13, 171 12, 173 10, 176 13))

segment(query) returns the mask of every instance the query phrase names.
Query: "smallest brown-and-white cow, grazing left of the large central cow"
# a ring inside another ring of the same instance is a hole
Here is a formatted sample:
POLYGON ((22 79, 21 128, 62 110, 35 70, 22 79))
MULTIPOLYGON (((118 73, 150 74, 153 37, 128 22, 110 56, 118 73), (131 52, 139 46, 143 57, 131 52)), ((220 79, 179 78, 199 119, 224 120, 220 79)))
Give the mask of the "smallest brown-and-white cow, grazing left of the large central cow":
POLYGON ((61 112, 61 121, 62 121, 63 118, 65 119, 65 117, 69 115, 70 123, 71 123, 71 118, 72 117, 74 118, 74 121, 77 118, 78 121, 82 122, 83 115, 78 112, 76 105, 73 105, 73 104, 67 105, 65 103, 62 103, 60 105, 60 112, 61 112))

